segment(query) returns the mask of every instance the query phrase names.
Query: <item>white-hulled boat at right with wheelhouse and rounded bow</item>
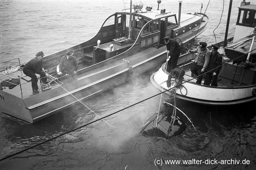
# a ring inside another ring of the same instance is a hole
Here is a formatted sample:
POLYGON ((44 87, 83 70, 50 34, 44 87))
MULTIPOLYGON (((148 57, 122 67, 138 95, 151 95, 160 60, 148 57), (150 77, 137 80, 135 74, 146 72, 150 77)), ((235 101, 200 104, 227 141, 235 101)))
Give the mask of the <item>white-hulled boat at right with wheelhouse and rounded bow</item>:
MULTIPOLYGON (((179 87, 176 87, 176 81, 172 79, 172 90, 167 88, 166 81, 169 73, 165 72, 165 64, 151 76, 151 82, 155 87, 164 88, 166 96, 176 95, 177 99, 203 105, 234 105, 255 100, 256 31, 254 27, 256 22, 250 15, 256 13, 256 5, 244 1, 241 4, 243 6, 238 7, 234 37, 228 39, 226 32, 224 41, 216 44, 220 46, 218 52, 222 55, 222 66, 217 79, 217 87, 204 85, 204 79, 201 84, 196 84, 197 77, 190 71, 190 66, 196 57, 192 53, 179 57, 179 67, 185 70, 182 84, 179 87)), ((211 46, 208 48, 211 50, 211 46)))

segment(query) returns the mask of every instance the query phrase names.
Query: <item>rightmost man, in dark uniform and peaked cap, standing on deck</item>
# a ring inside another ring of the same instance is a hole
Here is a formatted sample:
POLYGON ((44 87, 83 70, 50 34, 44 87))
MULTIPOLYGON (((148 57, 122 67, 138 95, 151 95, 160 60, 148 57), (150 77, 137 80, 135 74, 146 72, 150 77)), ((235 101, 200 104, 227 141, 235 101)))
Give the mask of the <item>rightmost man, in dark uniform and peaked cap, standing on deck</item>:
POLYGON ((212 45, 209 66, 206 68, 204 85, 218 86, 217 78, 222 65, 222 56, 218 52, 220 47, 212 45), (209 72, 208 72, 209 71, 209 72), (211 83, 212 81, 212 83, 211 83))

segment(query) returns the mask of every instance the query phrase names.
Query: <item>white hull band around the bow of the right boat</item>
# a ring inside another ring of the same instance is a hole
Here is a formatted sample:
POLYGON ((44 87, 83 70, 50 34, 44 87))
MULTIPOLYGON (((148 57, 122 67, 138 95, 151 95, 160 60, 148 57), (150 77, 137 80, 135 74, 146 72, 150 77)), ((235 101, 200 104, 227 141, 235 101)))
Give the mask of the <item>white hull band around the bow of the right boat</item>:
MULTIPOLYGON (((185 75, 183 79, 183 88, 176 89, 176 97, 182 100, 196 102, 206 105, 232 105, 238 103, 245 103, 256 99, 256 85, 236 86, 236 87, 211 87, 203 86, 195 83, 195 79, 185 75), (188 81, 188 82, 187 82, 188 81), (184 83, 185 82, 185 83, 184 83), (254 95, 253 95, 254 94, 254 95)), ((160 68, 151 76, 151 82, 158 86, 160 90, 166 91, 166 81, 168 74, 164 73, 160 68)), ((172 85, 171 88, 174 86, 172 85)), ((169 95, 167 91, 165 94, 169 95)))

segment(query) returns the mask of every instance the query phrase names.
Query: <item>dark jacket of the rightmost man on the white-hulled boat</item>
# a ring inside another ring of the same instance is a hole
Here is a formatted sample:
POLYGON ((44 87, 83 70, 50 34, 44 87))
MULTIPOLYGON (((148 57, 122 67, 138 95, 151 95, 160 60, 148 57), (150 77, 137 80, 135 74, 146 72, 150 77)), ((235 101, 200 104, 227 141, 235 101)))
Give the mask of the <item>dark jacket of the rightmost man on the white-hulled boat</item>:
POLYGON ((208 67, 206 68, 206 71, 209 71, 209 70, 212 70, 215 68, 214 70, 210 71, 210 73, 215 72, 218 74, 221 69, 221 67, 218 67, 218 66, 221 66, 221 64, 222 64, 222 56, 220 55, 220 53, 219 52, 217 52, 215 54, 211 53, 210 62, 209 62, 208 67), (218 68, 216 68, 216 67, 218 67, 218 68))

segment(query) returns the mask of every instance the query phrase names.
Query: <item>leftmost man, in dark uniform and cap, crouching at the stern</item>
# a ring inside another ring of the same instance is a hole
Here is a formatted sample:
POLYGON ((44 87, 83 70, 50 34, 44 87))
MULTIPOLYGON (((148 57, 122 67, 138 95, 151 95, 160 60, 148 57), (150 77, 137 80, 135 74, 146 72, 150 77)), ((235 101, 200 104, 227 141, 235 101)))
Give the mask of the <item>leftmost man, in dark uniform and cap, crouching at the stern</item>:
POLYGON ((40 79, 43 84, 47 84, 48 74, 44 72, 42 67, 42 60, 44 58, 44 53, 42 51, 36 53, 36 57, 32 60, 28 61, 28 63, 23 67, 23 73, 28 77, 31 77, 32 90, 35 93, 39 93, 37 86, 37 76, 36 74, 40 74, 40 79))

